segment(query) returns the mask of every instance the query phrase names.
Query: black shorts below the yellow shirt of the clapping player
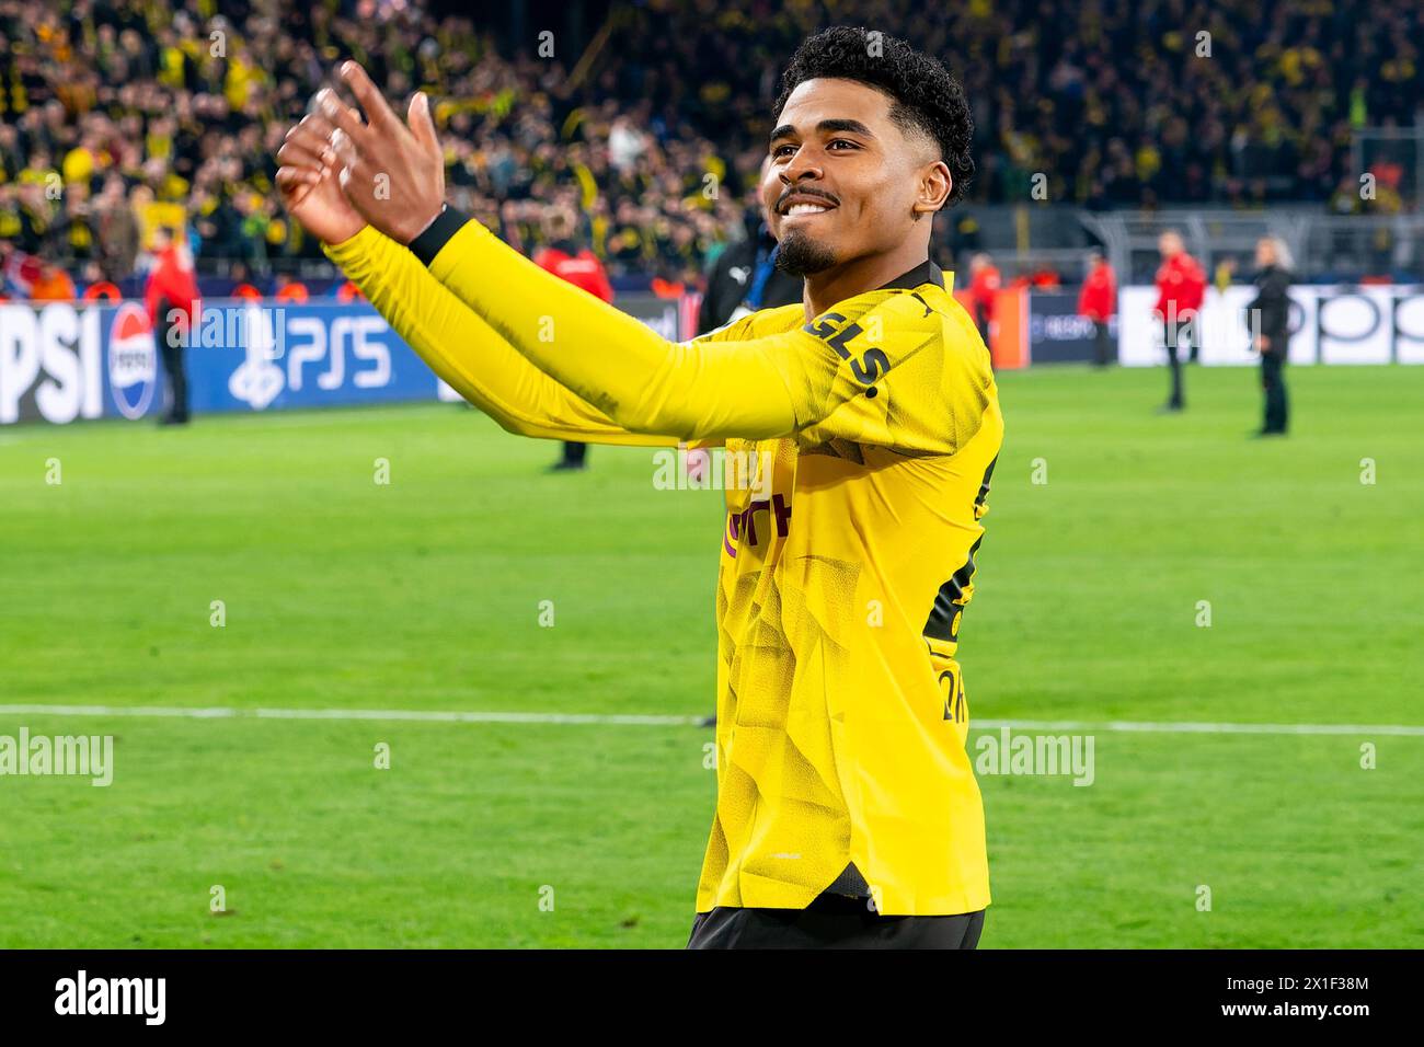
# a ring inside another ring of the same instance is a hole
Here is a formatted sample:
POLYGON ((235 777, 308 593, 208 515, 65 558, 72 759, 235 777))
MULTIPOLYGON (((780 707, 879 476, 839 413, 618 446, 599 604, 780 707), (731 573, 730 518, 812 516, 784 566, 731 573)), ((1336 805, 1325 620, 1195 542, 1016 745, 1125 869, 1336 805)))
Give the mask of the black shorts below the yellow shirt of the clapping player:
POLYGON ((822 895, 805 909, 718 906, 692 920, 688 949, 974 949, 984 910, 881 916, 867 899, 822 895))

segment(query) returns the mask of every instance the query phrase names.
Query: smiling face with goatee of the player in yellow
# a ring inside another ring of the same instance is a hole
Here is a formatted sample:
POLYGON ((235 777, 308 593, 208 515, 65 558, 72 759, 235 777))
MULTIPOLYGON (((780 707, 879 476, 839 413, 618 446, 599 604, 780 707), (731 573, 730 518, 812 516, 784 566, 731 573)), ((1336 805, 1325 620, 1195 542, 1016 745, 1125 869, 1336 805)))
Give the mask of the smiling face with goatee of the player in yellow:
POLYGON ((762 204, 797 276, 924 242, 924 215, 950 195, 934 141, 890 118, 886 93, 854 80, 802 83, 782 108, 762 178, 762 204), (917 221, 920 218, 921 221, 917 221))

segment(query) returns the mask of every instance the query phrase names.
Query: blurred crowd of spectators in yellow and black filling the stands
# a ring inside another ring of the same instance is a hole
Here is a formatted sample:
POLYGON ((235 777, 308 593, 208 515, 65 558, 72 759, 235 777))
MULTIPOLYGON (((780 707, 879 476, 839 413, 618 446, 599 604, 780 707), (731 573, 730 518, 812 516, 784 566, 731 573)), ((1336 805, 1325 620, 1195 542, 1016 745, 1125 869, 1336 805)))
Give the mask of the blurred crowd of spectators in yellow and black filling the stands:
MULTIPOLYGON (((171 226, 205 271, 319 261, 276 204, 272 154, 356 57, 389 95, 439 100, 453 197, 504 239, 533 254, 572 215, 614 278, 693 283, 745 235, 782 63, 837 21, 894 27, 965 85, 978 175, 941 255, 977 249, 973 202, 1027 199, 1034 172, 1091 208, 1351 211, 1351 130, 1411 124, 1424 95, 1418 0, 1356 16, 1341 0, 646 0, 615 4, 582 63, 537 40, 501 53, 468 17, 390 0, 0 0, 0 252, 117 281, 171 226)), ((51 271, 41 283, 64 293, 51 271)))

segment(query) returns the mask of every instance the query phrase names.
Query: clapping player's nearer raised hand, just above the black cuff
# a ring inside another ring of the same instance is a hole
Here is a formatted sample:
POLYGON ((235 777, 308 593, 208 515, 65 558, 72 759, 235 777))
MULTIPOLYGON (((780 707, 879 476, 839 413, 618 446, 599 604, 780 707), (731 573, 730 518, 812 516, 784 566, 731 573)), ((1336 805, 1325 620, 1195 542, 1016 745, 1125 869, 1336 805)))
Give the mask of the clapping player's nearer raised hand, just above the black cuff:
POLYGON ((342 80, 362 107, 345 105, 335 91, 318 93, 318 113, 336 128, 330 144, 352 205, 400 244, 414 239, 444 204, 444 157, 423 91, 410 100, 406 123, 386 103, 366 70, 342 64, 342 80))

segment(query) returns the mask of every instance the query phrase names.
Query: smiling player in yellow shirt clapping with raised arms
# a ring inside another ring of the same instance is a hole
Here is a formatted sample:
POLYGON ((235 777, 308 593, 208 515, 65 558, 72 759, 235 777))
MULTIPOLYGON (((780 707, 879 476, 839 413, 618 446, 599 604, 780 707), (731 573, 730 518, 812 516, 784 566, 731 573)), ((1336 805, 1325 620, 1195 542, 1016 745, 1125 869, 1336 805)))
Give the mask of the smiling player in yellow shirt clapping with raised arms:
POLYGON ((447 207, 423 94, 403 124, 359 67, 342 77, 367 123, 320 94, 279 185, 446 382, 518 433, 759 463, 726 493, 689 947, 974 947, 988 863, 956 651, 1004 427, 928 256, 974 171, 958 84, 879 33, 806 40, 762 182, 803 302, 672 343, 447 207))

